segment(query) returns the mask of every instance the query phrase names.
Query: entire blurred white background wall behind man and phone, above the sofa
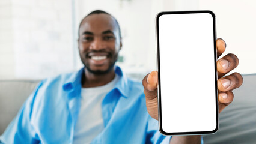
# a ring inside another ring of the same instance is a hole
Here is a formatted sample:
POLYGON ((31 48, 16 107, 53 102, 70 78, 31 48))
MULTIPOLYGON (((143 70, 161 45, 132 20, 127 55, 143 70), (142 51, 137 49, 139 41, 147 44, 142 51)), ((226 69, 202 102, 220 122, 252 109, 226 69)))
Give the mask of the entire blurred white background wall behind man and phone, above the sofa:
POLYGON ((253 0, 0 0, 0 79, 44 79, 81 68, 78 25, 98 9, 120 23, 117 65, 131 76, 156 70, 156 14, 183 10, 212 10, 217 36, 227 43, 224 55, 239 57, 234 71, 256 73, 255 7, 253 0))

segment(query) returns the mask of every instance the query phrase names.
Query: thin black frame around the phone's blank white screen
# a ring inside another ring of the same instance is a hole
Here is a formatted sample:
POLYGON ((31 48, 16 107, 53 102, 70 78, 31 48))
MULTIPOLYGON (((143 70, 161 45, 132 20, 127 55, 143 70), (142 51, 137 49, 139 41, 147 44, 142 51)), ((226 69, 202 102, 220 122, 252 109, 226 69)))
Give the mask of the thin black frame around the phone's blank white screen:
POLYGON ((159 131, 163 135, 170 136, 170 135, 197 135, 197 134, 213 134, 216 133, 216 131, 219 128, 219 110, 218 110, 218 86, 217 86, 217 67, 216 67, 216 61, 217 61, 217 52, 216 52, 216 18, 215 14, 212 11, 204 10, 204 11, 163 11, 157 14, 156 16, 156 40, 157 40, 157 70, 158 70, 158 121, 159 121, 159 131), (216 128, 212 131, 184 131, 184 132, 177 132, 177 133, 168 133, 166 131, 163 131, 162 128, 162 107, 161 107, 161 86, 160 86, 160 56, 159 56, 159 17, 165 14, 194 14, 194 13, 209 13, 213 17, 213 44, 214 44, 214 61, 215 61, 215 100, 216 100, 216 128))

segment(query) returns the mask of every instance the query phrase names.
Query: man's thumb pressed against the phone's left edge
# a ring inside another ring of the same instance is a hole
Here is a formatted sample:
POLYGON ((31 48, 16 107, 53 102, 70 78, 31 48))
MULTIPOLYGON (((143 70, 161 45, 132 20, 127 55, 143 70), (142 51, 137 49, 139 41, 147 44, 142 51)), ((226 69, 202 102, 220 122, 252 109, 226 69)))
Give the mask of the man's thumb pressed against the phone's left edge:
POLYGON ((145 76, 142 80, 145 96, 150 100, 157 98, 157 79, 158 72, 152 71, 150 74, 147 74, 147 76, 145 76))

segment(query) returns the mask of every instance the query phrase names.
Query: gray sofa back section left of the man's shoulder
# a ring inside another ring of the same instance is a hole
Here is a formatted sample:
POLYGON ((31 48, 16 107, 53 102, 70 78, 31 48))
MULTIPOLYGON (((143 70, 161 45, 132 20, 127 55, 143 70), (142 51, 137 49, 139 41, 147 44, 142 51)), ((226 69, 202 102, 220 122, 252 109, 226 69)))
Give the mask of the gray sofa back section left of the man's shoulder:
POLYGON ((0 80, 0 135, 40 80, 0 80))

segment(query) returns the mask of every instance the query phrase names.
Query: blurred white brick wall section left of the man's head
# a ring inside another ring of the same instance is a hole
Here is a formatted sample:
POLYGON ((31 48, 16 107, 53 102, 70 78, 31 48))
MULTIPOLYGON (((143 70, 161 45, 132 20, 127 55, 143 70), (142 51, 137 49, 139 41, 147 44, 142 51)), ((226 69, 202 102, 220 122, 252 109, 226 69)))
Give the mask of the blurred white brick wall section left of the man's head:
POLYGON ((1 79, 74 69, 70 0, 1 0, 0 7, 1 79))

